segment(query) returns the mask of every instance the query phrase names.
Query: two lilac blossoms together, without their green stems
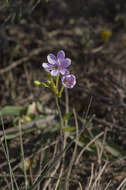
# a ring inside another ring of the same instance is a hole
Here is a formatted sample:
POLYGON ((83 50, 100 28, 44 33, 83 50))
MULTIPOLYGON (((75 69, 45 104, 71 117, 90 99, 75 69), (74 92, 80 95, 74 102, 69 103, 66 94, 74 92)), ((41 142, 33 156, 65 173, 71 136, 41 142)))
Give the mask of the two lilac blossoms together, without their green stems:
POLYGON ((62 75, 61 81, 62 85, 66 88, 73 88, 76 84, 76 77, 70 74, 67 67, 71 64, 71 59, 65 58, 65 53, 63 50, 58 51, 57 56, 50 53, 47 56, 48 63, 43 63, 42 66, 47 72, 54 77, 59 74, 62 75))

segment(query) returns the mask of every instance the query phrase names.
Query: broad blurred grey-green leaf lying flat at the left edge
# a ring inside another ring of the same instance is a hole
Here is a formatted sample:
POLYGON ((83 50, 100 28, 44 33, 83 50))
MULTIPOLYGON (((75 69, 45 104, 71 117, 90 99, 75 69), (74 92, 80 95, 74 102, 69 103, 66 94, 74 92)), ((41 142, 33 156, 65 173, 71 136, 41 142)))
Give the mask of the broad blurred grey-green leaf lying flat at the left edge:
POLYGON ((5 106, 0 110, 0 116, 12 115, 19 116, 26 111, 26 108, 23 106, 5 106))

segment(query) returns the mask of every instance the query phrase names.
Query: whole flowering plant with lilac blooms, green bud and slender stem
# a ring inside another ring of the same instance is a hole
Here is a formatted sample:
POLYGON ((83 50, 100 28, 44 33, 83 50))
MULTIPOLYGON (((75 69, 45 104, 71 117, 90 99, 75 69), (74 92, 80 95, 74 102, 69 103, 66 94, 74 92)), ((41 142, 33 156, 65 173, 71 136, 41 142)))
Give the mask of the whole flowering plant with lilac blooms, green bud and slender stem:
POLYGON ((48 73, 49 80, 46 83, 35 81, 36 85, 50 88, 55 96, 55 101, 60 116, 60 136, 63 143, 63 117, 59 106, 59 98, 61 98, 64 88, 73 88, 76 84, 76 77, 70 74, 68 67, 71 65, 71 59, 65 57, 63 50, 58 51, 57 56, 50 53, 47 56, 48 63, 42 63, 42 67, 48 73), (59 88, 59 79, 62 86, 59 88))

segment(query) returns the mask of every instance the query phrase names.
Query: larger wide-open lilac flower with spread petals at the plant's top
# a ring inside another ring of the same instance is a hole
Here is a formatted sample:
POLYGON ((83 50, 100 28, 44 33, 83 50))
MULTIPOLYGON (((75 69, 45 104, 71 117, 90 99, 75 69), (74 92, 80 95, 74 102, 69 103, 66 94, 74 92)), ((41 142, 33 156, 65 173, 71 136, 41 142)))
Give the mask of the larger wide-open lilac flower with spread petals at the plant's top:
POLYGON ((51 73, 52 76, 57 76, 59 73, 68 75, 69 71, 66 69, 71 64, 71 59, 65 58, 63 50, 58 51, 57 57, 50 53, 47 56, 48 63, 43 63, 44 69, 51 73))

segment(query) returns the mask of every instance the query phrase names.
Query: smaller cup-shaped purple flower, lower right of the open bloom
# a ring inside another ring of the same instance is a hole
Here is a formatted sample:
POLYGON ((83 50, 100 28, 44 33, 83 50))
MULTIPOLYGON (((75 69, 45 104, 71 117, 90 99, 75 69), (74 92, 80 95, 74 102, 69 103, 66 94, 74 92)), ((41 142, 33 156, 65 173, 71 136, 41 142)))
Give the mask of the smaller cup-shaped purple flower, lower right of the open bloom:
POLYGON ((65 75, 61 78, 63 86, 66 88, 73 88, 76 84, 76 77, 74 75, 65 75))

